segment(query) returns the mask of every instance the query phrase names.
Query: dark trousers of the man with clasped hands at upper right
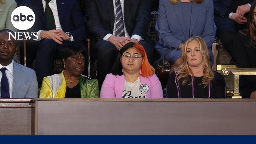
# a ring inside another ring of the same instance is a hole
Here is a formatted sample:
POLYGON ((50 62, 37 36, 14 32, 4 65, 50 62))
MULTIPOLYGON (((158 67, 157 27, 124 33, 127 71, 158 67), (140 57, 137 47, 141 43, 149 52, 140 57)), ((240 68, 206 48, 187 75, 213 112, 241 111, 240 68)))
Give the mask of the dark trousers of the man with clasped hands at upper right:
POLYGON ((239 25, 229 18, 214 17, 217 27, 216 36, 221 41, 224 48, 234 58, 234 39, 237 32, 244 28, 245 25, 239 25))

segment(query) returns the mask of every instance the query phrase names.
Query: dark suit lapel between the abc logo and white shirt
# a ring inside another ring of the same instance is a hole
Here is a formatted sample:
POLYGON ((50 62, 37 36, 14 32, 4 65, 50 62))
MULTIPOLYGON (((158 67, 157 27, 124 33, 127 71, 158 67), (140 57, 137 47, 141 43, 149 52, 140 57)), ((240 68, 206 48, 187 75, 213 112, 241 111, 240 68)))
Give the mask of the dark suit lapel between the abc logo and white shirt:
MULTIPOLYGON (((32 7, 34 7, 33 11, 35 15, 39 16, 39 18, 44 24, 44 27, 46 28, 46 17, 44 14, 44 7, 43 7, 42 0, 32 0, 32 7)), ((38 19, 38 18, 35 18, 35 19, 38 19)))

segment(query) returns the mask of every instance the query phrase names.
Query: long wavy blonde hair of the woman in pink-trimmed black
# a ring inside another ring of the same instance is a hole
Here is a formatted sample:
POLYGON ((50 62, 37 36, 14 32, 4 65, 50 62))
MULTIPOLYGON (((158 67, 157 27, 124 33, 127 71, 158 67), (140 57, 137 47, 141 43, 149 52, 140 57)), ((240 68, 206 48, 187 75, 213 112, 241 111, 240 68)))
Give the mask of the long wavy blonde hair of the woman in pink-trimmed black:
MULTIPOLYGON (((187 56, 186 56, 187 46, 188 46, 188 43, 190 43, 191 41, 197 41, 199 43, 200 53, 202 55, 203 65, 204 65, 202 84, 204 85, 204 88, 205 88, 207 86, 207 84, 213 80, 214 73, 212 71, 212 67, 211 67, 210 61, 209 61, 210 56, 209 56, 209 50, 208 50, 207 44, 199 36, 190 37, 190 38, 188 38, 187 41, 185 41, 185 44, 184 44, 185 46, 181 50, 182 64, 178 68, 175 68, 175 70, 177 72, 177 81, 179 84, 185 85, 188 82, 190 73, 192 74, 192 76, 194 78, 194 74, 188 66, 187 56)), ((191 83, 189 83, 188 85, 191 85, 191 83)))

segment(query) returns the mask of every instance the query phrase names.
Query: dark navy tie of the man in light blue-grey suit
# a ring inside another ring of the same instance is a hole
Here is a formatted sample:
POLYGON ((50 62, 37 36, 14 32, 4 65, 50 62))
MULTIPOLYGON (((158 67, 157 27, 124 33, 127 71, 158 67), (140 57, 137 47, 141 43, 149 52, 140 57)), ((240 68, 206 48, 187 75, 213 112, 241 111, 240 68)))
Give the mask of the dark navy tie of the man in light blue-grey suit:
POLYGON ((0 71, 2 72, 1 78, 1 98, 9 98, 10 97, 10 90, 9 90, 9 82, 5 74, 6 68, 1 68, 0 71))

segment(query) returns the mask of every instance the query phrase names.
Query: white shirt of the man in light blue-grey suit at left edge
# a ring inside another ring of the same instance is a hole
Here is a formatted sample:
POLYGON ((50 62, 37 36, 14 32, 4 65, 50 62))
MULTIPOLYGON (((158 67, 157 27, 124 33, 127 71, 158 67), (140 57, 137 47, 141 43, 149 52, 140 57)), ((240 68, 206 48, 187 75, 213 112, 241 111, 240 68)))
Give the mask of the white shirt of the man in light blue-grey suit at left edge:
MULTIPOLYGON (((5 70, 5 74, 6 77, 8 79, 8 83, 9 83, 9 93, 10 93, 10 98, 13 97, 13 60, 12 62, 7 65, 7 66, 2 66, 0 64, 0 69, 1 68, 6 68, 7 70, 5 70)), ((3 74, 0 72, 0 87, 1 87, 1 78, 2 78, 3 74)), ((1 94, 1 93, 0 93, 1 94)))

